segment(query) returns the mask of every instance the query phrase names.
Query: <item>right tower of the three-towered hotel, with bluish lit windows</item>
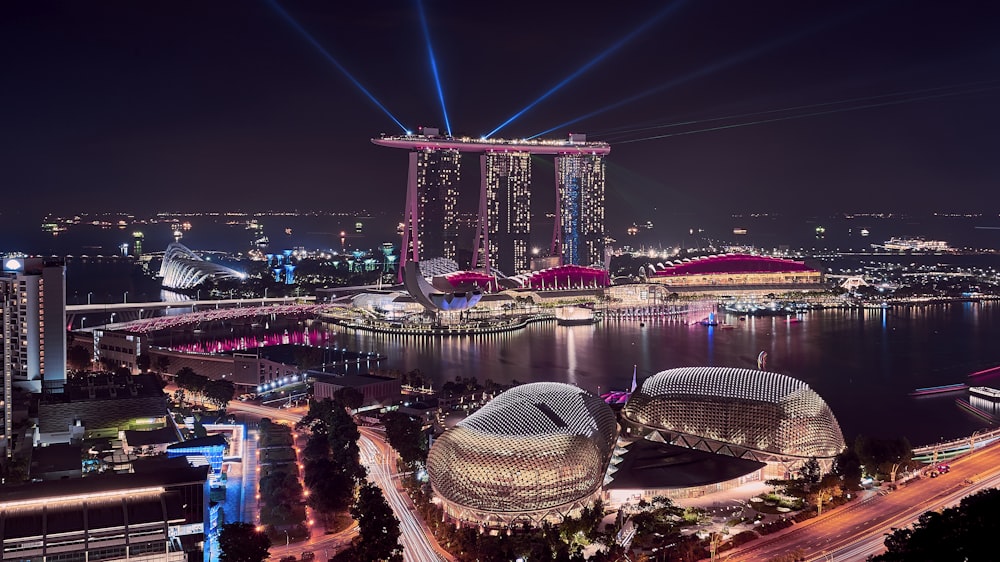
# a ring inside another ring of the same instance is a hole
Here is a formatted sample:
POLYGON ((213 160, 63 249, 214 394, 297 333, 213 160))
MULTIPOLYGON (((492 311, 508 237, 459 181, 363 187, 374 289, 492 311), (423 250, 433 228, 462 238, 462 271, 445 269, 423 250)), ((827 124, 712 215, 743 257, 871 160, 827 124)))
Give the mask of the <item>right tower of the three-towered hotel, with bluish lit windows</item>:
POLYGON ((559 205, 556 217, 564 264, 602 267, 604 262, 604 157, 556 157, 559 205))

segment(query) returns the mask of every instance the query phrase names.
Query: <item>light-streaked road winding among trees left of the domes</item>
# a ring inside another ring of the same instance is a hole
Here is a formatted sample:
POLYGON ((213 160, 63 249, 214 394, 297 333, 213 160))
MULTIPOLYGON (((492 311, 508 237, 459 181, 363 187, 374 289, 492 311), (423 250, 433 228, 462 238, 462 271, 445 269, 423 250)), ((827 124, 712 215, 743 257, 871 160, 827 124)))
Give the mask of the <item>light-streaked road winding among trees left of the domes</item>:
MULTIPOLYGON (((267 406, 247 402, 230 402, 229 410, 232 412, 243 412, 255 416, 270 418, 272 421, 282 421, 297 423, 302 419, 302 414, 294 410, 275 409, 267 406)), ((399 519, 400 543, 403 545, 403 560, 407 562, 428 562, 453 560, 437 541, 433 534, 423 525, 423 521, 417 516, 412 508, 413 504, 409 496, 404 494, 396 486, 396 453, 385 442, 384 438, 370 428, 359 428, 361 439, 358 448, 361 451, 362 464, 368 469, 368 478, 382 489, 386 502, 392 508, 396 518, 399 519)), ((322 535, 314 531, 313 535, 306 542, 299 542, 271 547, 271 557, 278 559, 288 554, 297 554, 306 550, 312 550, 319 554, 324 549, 329 549, 332 554, 340 547, 349 544, 350 540, 357 535, 357 525, 346 531, 333 535, 322 535)))

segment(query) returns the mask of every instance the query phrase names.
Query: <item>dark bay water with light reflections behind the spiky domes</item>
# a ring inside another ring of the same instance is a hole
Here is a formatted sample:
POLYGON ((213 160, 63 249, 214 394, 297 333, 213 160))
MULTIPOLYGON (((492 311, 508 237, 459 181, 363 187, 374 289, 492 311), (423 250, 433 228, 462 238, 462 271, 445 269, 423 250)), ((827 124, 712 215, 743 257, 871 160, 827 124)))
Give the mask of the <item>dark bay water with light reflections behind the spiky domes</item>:
MULTIPOLYGON (((783 317, 728 316, 733 329, 677 320, 606 320, 595 326, 532 324, 517 332, 431 338, 338 335, 347 347, 377 351, 388 368, 420 369, 441 384, 456 376, 497 382, 562 381, 591 392, 627 388, 673 367, 768 369, 807 382, 826 399, 848 439, 906 435, 915 444, 971 434, 984 422, 945 395, 911 398, 918 387, 965 382, 1000 365, 1000 303, 954 303, 886 310, 825 310, 788 323, 783 317)), ((978 381, 1000 386, 996 380, 978 381)))

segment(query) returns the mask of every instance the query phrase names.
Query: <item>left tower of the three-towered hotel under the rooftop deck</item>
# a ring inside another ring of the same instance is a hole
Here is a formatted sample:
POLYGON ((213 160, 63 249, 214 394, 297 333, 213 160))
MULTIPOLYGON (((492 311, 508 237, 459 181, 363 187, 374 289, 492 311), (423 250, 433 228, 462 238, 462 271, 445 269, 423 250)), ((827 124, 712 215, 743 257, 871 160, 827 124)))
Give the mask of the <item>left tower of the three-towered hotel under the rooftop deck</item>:
POLYGON ((420 259, 455 259, 461 154, 457 150, 427 149, 415 151, 412 156, 416 157, 420 259))

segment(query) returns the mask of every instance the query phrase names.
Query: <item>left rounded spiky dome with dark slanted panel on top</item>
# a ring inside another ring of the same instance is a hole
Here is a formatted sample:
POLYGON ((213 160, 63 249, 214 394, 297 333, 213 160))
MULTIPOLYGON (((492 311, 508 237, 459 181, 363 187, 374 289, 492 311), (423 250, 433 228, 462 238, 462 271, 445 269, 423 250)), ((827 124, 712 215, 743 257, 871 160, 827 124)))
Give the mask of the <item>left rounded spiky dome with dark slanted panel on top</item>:
POLYGON ((559 521, 600 494, 617 433, 599 397, 569 384, 525 384, 441 435, 427 472, 455 519, 559 521))

